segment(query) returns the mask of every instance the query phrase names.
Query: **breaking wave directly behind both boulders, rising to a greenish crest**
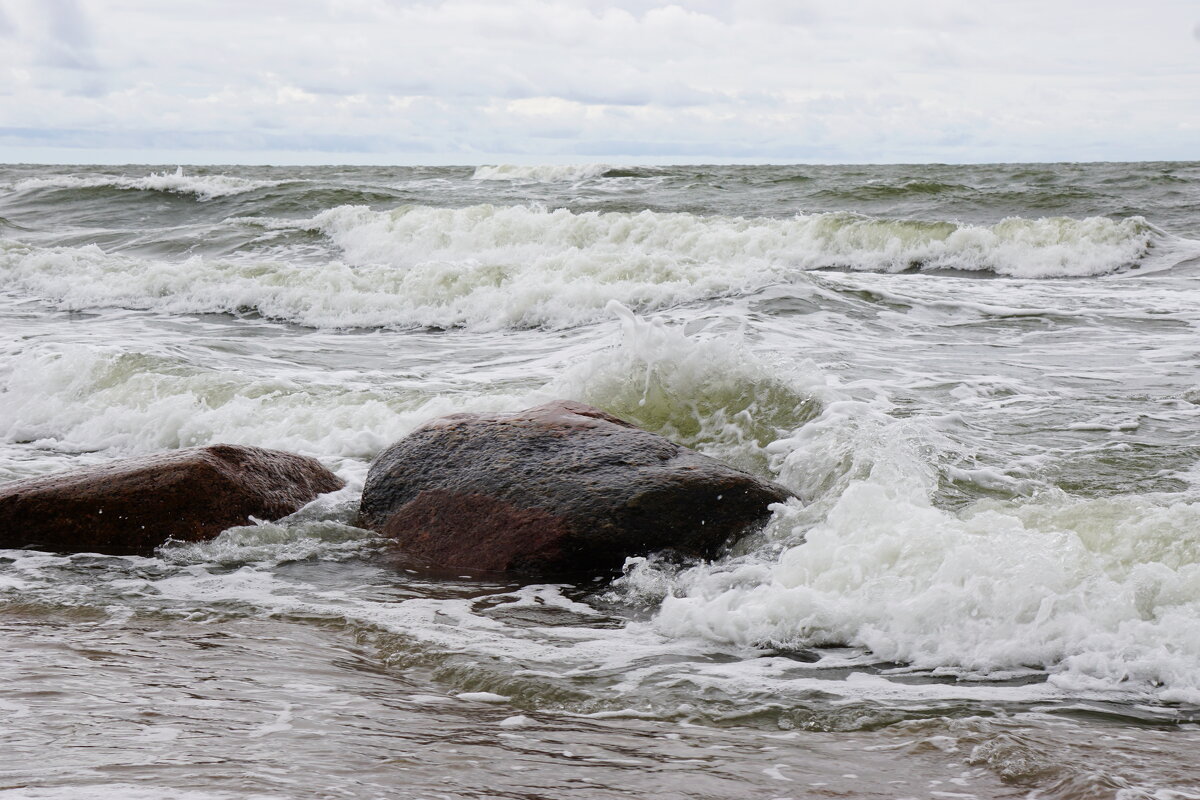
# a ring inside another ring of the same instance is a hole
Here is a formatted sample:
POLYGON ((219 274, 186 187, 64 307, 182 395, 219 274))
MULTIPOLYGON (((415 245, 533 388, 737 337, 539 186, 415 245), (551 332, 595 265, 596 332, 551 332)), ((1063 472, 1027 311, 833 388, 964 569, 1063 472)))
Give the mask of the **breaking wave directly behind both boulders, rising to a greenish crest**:
POLYGON ((0 362, 0 441, 120 453, 226 441, 359 462, 365 469, 430 417, 565 397, 766 475, 767 445, 820 408, 824 390, 816 367, 767 363, 734 336, 685 336, 618 303, 606 313, 620 320, 616 347, 522 389, 446 392, 445 377, 428 387, 380 375, 322 383, 215 369, 175 351, 13 347, 0 362))

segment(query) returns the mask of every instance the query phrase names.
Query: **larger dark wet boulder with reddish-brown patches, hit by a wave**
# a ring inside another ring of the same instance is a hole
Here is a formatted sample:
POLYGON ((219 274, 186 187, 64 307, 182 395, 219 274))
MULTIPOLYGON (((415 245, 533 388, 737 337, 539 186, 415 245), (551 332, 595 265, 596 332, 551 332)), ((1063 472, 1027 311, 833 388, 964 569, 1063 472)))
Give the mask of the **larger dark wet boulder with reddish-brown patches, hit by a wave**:
POLYGON ((371 465, 359 524, 434 567, 589 572, 712 555, 792 497, 604 411, 557 401, 427 422, 371 465))

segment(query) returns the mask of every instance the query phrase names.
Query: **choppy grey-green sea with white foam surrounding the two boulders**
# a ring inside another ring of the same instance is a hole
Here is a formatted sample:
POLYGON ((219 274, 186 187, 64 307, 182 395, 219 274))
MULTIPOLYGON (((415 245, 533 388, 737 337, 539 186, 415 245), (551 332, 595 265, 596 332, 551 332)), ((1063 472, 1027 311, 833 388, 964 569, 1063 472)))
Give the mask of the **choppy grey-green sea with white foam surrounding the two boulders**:
POLYGON ((0 552, 0 798, 1200 798, 1200 164, 0 168, 0 481, 349 481, 0 552), (414 572, 428 417, 554 397, 803 503, 712 563, 414 572))

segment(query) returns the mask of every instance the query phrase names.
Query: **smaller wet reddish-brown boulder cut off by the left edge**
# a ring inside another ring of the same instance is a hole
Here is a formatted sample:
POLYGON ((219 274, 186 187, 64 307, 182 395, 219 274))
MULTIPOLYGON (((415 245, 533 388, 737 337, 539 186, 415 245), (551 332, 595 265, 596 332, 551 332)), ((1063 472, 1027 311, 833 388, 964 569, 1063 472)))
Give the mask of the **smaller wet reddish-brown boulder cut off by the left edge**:
POLYGON ((278 450, 174 450, 0 485, 0 547, 148 554, 168 539, 286 517, 342 486, 319 462, 278 450))

